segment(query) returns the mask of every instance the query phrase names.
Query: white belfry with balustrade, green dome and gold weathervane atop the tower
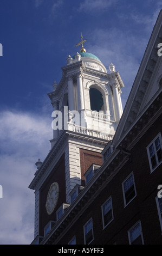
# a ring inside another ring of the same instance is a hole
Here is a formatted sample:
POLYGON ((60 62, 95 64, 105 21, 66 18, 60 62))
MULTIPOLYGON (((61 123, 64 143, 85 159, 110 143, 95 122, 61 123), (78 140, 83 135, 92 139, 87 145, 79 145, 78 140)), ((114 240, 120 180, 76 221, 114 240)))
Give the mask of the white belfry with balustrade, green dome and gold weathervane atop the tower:
MULTIPOLYGON (((83 40, 82 35, 81 39, 75 45, 82 44, 80 53, 77 52, 73 57, 68 56, 67 65, 62 68, 62 79, 58 85, 54 83, 54 91, 48 96, 54 113, 61 111, 63 121, 66 120, 62 129, 109 141, 114 136, 122 115, 120 95, 124 84, 119 72, 115 71, 115 66, 111 63, 108 73, 98 57, 86 52, 83 47, 86 40, 83 40), (67 119, 65 115, 68 116, 67 119)), ((60 120, 61 124, 63 121, 60 120)), ((57 126, 53 128, 51 147, 60 134, 60 125, 58 129, 57 126)))

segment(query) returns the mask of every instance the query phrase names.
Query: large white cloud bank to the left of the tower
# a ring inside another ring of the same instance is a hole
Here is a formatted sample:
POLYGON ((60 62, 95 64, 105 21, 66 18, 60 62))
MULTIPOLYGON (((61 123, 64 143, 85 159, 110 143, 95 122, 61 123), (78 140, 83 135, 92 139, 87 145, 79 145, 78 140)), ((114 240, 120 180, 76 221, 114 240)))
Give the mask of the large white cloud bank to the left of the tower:
POLYGON ((16 111, 3 111, 0 119, 0 244, 29 244, 34 239, 34 191, 28 186, 35 162, 49 153, 52 120, 16 111))

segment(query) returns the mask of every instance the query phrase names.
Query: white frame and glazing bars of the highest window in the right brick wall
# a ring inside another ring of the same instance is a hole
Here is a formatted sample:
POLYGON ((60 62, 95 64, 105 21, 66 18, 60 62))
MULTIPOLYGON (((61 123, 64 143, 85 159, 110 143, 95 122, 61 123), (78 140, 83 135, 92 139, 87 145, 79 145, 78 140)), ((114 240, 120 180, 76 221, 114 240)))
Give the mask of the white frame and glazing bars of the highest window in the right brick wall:
POLYGON ((148 156, 148 162, 150 164, 150 170, 151 170, 151 173, 162 163, 162 160, 159 162, 158 160, 158 156, 157 156, 157 150, 155 148, 155 140, 159 137, 160 139, 160 146, 161 146, 161 150, 162 150, 162 139, 161 139, 161 133, 159 132, 158 135, 151 141, 151 143, 147 146, 147 156, 148 156), (150 151, 149 151, 149 148, 151 147, 151 145, 153 144, 153 148, 154 148, 154 155, 155 155, 155 159, 156 159, 156 162, 157 162, 157 165, 152 168, 152 163, 151 163, 151 157, 150 157, 150 151))

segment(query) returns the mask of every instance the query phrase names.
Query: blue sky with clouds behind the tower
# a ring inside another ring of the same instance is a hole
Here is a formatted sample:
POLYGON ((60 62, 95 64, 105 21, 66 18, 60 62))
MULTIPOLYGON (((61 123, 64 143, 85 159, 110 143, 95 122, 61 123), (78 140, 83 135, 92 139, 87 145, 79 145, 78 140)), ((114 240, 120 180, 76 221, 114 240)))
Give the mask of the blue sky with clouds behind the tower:
POLYGON ((47 93, 81 33, 86 52, 119 71, 124 108, 160 9, 158 0, 0 0, 0 245, 34 239, 28 186, 53 137, 47 93))

